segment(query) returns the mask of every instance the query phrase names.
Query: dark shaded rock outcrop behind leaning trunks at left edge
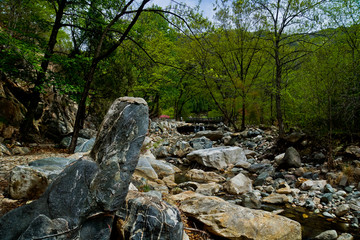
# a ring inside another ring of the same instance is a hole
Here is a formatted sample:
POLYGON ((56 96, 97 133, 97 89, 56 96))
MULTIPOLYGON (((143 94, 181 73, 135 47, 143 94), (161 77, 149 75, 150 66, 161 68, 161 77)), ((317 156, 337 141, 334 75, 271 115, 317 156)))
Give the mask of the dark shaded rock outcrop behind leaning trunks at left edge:
MULTIPOLYGON (((20 140, 20 125, 24 121, 29 102, 27 86, 11 81, 4 75, 0 78, 0 142, 20 140)), ((66 95, 44 89, 41 102, 35 111, 33 127, 29 135, 33 142, 52 141, 58 143, 73 131, 77 104, 66 95)), ((92 128, 90 123, 86 127, 92 128)))

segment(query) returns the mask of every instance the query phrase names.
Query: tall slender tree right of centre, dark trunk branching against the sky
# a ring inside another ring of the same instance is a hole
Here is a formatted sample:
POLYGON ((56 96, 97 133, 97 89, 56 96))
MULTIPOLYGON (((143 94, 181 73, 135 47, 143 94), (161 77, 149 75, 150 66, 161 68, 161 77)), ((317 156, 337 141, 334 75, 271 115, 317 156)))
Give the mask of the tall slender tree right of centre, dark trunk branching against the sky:
POLYGON ((281 97, 283 74, 286 67, 308 54, 306 49, 289 50, 288 46, 306 43, 307 36, 317 30, 317 9, 325 0, 252 0, 252 3, 257 12, 254 17, 268 31, 265 39, 270 44, 266 52, 274 61, 276 118, 282 137, 285 134, 281 97))

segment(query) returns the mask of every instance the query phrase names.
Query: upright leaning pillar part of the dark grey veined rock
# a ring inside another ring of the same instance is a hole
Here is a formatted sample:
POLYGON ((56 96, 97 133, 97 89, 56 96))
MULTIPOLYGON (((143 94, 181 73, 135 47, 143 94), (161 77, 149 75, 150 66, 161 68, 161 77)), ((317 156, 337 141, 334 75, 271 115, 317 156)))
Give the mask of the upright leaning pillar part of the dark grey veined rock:
POLYGON ((90 153, 100 166, 91 190, 104 210, 124 202, 148 124, 147 104, 129 97, 116 99, 101 123, 90 153))

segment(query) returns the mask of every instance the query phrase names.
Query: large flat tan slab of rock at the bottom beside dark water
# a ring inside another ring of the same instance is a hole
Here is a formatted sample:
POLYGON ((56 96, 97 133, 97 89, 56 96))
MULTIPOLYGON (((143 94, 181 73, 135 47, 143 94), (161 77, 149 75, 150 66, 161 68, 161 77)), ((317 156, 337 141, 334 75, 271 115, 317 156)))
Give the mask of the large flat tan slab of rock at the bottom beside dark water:
POLYGON ((180 193, 180 210, 205 224, 215 235, 228 239, 301 239, 298 222, 283 216, 244 208, 218 197, 180 193), (181 196, 183 195, 183 196, 181 196))

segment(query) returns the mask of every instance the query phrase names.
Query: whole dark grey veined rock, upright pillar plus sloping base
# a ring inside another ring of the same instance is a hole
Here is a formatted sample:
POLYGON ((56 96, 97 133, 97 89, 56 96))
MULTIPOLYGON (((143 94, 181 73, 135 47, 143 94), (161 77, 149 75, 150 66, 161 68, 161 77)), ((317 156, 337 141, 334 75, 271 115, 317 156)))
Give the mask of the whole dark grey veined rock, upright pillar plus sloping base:
POLYGON ((49 232, 76 239, 108 239, 115 211, 125 203, 148 121, 143 99, 115 100, 101 124, 93 159, 76 161, 38 200, 4 215, 0 239, 43 238, 49 232), (36 231, 39 226, 46 226, 43 233, 36 231))

